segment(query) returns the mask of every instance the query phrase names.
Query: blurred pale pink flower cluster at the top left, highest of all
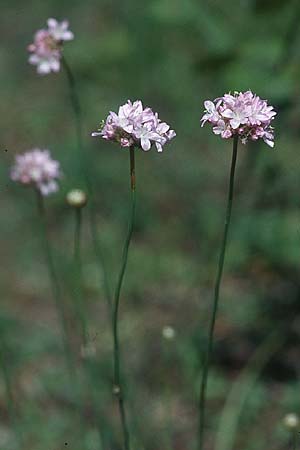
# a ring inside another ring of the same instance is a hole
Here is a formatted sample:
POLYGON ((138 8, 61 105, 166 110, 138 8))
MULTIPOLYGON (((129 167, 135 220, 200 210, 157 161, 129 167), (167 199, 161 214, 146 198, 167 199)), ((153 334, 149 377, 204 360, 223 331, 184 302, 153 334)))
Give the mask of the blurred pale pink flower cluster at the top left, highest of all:
POLYGON ((47 25, 47 29, 36 32, 33 44, 28 46, 29 62, 37 66, 37 72, 42 75, 59 71, 63 43, 74 38, 66 20, 48 19, 47 25))

